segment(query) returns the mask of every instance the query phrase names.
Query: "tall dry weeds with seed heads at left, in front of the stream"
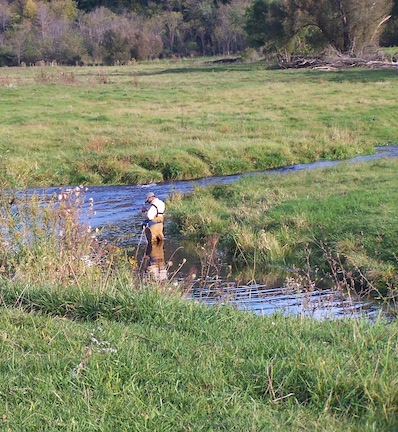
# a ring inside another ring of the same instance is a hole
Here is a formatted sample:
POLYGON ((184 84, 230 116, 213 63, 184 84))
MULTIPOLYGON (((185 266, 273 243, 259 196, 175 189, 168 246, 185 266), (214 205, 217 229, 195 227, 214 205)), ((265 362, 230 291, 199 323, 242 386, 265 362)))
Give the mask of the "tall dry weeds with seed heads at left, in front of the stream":
MULTIPOLYGON (((94 212, 86 189, 45 192, 0 190, 0 278, 63 287, 102 284, 129 267, 122 251, 92 232, 94 212)), ((131 267, 130 267, 131 271, 131 267)))

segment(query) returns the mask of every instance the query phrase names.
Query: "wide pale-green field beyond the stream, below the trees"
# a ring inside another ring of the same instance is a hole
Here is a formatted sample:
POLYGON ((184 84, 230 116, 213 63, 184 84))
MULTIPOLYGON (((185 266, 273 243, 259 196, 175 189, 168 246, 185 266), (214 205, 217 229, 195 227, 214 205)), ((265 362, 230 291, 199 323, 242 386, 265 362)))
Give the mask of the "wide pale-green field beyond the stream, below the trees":
POLYGON ((204 60, 0 68, 15 186, 134 184, 345 158, 396 142, 393 70, 204 60))

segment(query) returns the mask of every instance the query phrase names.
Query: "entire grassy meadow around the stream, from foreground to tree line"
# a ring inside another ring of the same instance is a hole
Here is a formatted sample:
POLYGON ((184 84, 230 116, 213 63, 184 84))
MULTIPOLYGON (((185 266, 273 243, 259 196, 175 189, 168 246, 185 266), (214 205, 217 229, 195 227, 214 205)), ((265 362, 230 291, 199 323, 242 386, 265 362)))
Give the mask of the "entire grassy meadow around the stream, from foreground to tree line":
MULTIPOLYGON (((10 192, 368 154, 396 143, 397 77, 202 60, 0 68, 0 430, 396 430, 396 320, 188 301, 187 287, 148 284, 96 242, 84 188, 10 192)), ((175 194, 168 209, 175 230, 253 271, 329 263, 375 276, 391 300, 396 168, 256 175, 175 194)))

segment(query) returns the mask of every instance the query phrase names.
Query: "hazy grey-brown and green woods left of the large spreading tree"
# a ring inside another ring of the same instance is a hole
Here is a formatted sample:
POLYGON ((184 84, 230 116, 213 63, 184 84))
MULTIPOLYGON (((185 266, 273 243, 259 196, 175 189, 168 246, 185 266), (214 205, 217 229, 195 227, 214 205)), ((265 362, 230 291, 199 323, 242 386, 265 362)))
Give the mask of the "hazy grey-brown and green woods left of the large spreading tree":
POLYGON ((8 32, 7 45, 19 56, 18 64, 43 60, 71 64, 65 49, 68 45, 77 61, 84 59, 89 64, 119 64, 176 54, 229 55, 247 47, 243 37, 246 5, 247 0, 173 5, 147 0, 29 0, 4 5, 0 35, 8 32), (26 24, 31 27, 31 41, 17 31, 26 24), (70 44, 68 29, 73 29, 81 43, 70 44), (59 56, 59 44, 64 45, 64 57, 59 56))

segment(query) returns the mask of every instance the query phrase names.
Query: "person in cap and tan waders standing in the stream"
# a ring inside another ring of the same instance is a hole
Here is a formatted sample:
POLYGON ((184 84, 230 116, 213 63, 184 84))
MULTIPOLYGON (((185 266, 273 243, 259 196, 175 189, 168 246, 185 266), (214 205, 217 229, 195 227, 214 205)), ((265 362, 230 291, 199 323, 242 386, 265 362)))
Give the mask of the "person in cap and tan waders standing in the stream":
POLYGON ((146 212, 146 220, 142 226, 145 229, 145 237, 149 246, 153 242, 157 244, 164 240, 163 234, 163 218, 165 211, 165 203, 157 198, 153 192, 149 192, 146 197, 146 204, 149 204, 149 209, 145 205, 142 206, 142 212, 146 212))

